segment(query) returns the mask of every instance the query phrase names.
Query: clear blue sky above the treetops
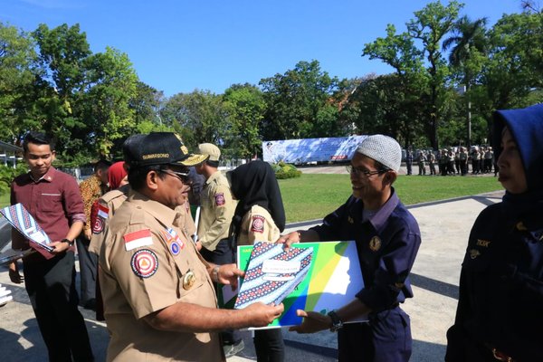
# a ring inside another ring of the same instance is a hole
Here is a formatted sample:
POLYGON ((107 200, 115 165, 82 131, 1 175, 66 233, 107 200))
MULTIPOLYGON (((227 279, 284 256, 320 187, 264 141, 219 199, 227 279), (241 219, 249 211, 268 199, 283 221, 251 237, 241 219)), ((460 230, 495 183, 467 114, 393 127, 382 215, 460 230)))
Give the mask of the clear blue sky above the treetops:
MULTIPOLYGON (((172 96, 258 84, 300 61, 318 60, 338 78, 388 73, 386 64, 361 57, 364 44, 385 36, 386 24, 403 31, 428 2, 0 0, 0 21, 28 32, 79 23, 93 52, 126 52, 141 81, 172 96)), ((463 3, 462 14, 489 24, 521 11, 520 0, 463 3)))

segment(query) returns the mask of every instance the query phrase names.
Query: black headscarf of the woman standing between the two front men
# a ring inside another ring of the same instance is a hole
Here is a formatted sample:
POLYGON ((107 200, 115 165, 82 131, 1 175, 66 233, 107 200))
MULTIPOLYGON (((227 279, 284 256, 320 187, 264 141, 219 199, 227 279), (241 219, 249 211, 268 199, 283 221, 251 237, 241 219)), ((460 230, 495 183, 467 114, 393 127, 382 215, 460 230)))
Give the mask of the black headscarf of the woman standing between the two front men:
POLYGON ((233 233, 240 230, 243 216, 252 205, 268 210, 273 222, 282 232, 285 229, 285 209, 282 205, 281 190, 270 164, 254 160, 229 171, 233 196, 239 200, 233 214, 233 233))

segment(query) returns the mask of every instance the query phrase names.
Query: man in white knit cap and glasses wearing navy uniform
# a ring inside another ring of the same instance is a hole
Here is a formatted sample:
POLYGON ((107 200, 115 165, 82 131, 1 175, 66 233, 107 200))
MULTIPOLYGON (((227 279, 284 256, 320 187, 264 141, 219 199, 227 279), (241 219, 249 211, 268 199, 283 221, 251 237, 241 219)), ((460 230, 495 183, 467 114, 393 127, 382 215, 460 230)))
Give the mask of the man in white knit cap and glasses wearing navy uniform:
POLYGON ((421 233, 392 186, 401 158, 394 138, 368 136, 348 167, 353 195, 347 202, 323 224, 278 240, 286 248, 292 243, 356 241, 364 288, 328 315, 298 310, 303 322, 291 328, 299 333, 338 331, 339 361, 408 361, 411 356, 410 319, 399 304, 413 297, 408 275, 421 233), (368 323, 343 324, 363 315, 368 323))

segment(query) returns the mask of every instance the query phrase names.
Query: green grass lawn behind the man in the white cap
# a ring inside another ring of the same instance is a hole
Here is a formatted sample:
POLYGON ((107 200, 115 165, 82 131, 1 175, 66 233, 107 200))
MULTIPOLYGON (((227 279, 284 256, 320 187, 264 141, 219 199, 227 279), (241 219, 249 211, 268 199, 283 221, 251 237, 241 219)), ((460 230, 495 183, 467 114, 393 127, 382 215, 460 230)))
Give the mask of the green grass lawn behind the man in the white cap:
MULTIPOLYGON (((302 174, 279 180, 287 223, 321 219, 351 195, 348 175, 302 174)), ((497 177, 398 176, 395 190, 405 205, 500 190, 497 177)))

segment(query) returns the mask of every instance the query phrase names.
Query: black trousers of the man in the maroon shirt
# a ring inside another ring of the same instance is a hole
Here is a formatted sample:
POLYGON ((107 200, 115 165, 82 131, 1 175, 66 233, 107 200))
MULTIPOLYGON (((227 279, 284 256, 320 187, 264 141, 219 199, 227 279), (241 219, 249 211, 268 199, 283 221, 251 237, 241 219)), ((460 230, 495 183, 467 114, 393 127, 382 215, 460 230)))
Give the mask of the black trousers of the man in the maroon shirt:
POLYGON ((52 362, 93 360, 77 309, 74 259, 73 252, 64 252, 48 261, 24 262, 24 284, 52 362))

